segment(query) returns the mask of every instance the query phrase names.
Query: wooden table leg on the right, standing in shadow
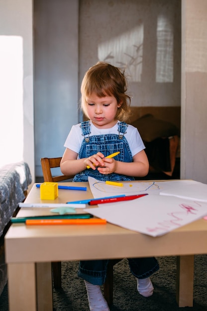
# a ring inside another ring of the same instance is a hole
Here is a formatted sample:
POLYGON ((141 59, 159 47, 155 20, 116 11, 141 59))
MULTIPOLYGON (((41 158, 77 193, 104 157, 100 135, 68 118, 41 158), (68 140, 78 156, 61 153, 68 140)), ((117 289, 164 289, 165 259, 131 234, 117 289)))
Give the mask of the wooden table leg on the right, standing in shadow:
POLYGON ((193 307, 194 255, 177 256, 176 300, 179 307, 193 307))

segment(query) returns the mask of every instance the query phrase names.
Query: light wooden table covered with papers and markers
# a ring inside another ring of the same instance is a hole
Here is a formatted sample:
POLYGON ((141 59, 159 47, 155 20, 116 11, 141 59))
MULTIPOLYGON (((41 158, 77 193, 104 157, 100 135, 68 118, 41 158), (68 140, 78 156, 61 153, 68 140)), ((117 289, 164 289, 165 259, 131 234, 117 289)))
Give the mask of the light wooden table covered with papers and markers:
MULTIPOLYGON (((76 186, 87 186, 87 191, 59 190, 55 201, 41 201, 40 190, 34 184, 25 203, 65 203, 93 197, 88 183, 76 186)), ((50 209, 22 208, 17 217, 45 213, 50 214, 50 209)), ((5 236, 9 310, 52 311, 52 261, 175 255, 176 300, 179 307, 192 307, 194 254, 207 254, 206 240, 207 222, 203 219, 158 237, 109 223, 30 227, 12 224, 5 236)))

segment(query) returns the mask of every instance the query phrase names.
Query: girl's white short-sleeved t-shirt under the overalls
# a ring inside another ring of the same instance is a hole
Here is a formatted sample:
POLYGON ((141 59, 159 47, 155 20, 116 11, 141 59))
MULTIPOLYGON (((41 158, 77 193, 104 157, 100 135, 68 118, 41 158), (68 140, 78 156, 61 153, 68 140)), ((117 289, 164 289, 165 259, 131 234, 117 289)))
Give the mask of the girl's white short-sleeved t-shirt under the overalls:
MULTIPOLYGON (((118 123, 119 121, 117 121, 118 123)), ((98 129, 94 124, 90 121, 91 125, 91 134, 93 135, 104 135, 104 134, 118 134, 118 124, 115 124, 110 129, 98 129)), ((71 128, 71 131, 65 141, 64 147, 76 152, 79 154, 81 144, 83 142, 84 137, 82 136, 82 130, 80 127, 80 124, 73 125, 71 128)), ((124 134, 124 137, 126 138, 129 148, 131 150, 132 156, 135 156, 137 153, 145 149, 145 146, 143 144, 143 141, 141 139, 141 136, 139 132, 137 131, 137 128, 135 128, 132 125, 128 125, 126 129, 126 134, 124 134)))

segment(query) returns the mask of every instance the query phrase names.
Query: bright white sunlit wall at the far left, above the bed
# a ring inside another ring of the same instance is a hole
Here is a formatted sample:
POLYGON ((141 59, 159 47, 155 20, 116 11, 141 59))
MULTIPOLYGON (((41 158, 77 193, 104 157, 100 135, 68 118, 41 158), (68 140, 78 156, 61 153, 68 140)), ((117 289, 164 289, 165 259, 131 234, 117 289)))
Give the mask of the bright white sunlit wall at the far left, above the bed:
POLYGON ((0 166, 26 161, 34 181, 32 0, 0 0, 0 166))

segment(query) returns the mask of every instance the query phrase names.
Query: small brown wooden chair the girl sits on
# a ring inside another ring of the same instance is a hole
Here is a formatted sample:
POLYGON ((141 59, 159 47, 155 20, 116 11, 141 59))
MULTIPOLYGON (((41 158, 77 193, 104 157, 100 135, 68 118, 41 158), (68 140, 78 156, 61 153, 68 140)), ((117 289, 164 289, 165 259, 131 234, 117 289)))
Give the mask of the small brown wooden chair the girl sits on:
MULTIPOLYGON (((62 157, 42 157, 41 158, 41 166, 43 172, 44 181, 50 182, 60 182, 63 180, 71 179, 74 176, 66 176, 59 175, 53 176, 51 172, 51 168, 60 167, 60 161, 62 157)), ((105 300, 110 306, 113 302, 113 266, 119 262, 121 259, 110 259, 108 261, 106 279, 103 284, 103 292, 105 300)), ((61 261, 60 262, 52 262, 52 271, 53 271, 53 285, 54 288, 61 288, 61 261)))

